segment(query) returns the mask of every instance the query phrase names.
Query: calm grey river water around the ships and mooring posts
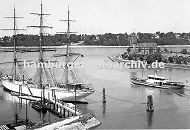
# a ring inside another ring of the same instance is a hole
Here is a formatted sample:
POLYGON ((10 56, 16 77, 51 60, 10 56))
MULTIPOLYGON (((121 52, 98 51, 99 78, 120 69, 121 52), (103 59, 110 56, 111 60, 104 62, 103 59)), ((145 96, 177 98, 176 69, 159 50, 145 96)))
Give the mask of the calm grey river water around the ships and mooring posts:
MULTIPOLYGON (((73 48, 75 52, 84 54, 80 61, 111 62, 107 56, 121 54, 126 48, 73 48)), ((57 53, 61 52, 58 50, 57 53)), ((46 53, 47 59, 53 53, 46 53)), ((36 59, 38 54, 19 54, 20 60, 36 59)), ((0 54, 1 61, 10 61, 11 53, 0 54)), ((52 59, 52 58, 51 58, 52 59)), ((1 65, 1 69, 10 72, 11 65, 1 65)), ((95 93, 87 97, 89 104, 78 105, 85 113, 91 112, 101 122, 97 129, 124 129, 124 128, 190 128, 190 88, 183 90, 160 90, 152 89, 155 111, 146 112, 146 88, 130 85, 130 73, 135 72, 142 76, 140 69, 108 69, 108 68, 81 68, 80 77, 84 82, 91 82, 95 93), (102 89, 106 89, 107 103, 102 104, 102 89)), ((29 77, 34 75, 35 70, 28 69, 29 77)), ((190 70, 162 69, 158 75, 169 77, 174 81, 190 82, 190 70)), ((154 74, 154 70, 145 70, 144 76, 154 74)), ((187 82, 188 83, 188 82, 187 82)), ((0 87, 0 124, 14 120, 15 108, 20 118, 25 118, 25 105, 19 107, 17 99, 0 87)), ((42 116, 33 109, 29 109, 29 118, 32 121, 42 120, 42 116)), ((53 115, 46 114, 45 121, 58 120, 53 115)))

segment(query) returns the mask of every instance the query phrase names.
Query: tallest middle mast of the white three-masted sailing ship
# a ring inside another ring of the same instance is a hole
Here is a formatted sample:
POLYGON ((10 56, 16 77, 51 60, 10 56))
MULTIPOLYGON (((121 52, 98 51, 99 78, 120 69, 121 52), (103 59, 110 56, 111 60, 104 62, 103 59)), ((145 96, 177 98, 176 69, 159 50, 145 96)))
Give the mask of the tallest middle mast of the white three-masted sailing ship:
POLYGON ((43 16, 44 15, 50 15, 50 14, 44 14, 43 13, 43 6, 42 6, 42 0, 41 0, 41 4, 40 4, 40 13, 31 13, 31 14, 35 14, 35 15, 38 15, 40 16, 40 25, 39 26, 28 26, 28 27, 34 27, 34 28, 39 28, 40 29, 40 32, 39 32, 39 42, 40 42, 40 45, 39 45, 39 85, 40 85, 40 88, 42 89, 42 104, 44 104, 44 101, 45 101, 45 93, 44 93, 44 89, 45 87, 43 86, 42 84, 42 69, 43 69, 43 62, 44 62, 44 59, 43 59, 43 31, 44 31, 44 28, 52 28, 52 27, 49 27, 49 26, 44 26, 43 25, 43 16))

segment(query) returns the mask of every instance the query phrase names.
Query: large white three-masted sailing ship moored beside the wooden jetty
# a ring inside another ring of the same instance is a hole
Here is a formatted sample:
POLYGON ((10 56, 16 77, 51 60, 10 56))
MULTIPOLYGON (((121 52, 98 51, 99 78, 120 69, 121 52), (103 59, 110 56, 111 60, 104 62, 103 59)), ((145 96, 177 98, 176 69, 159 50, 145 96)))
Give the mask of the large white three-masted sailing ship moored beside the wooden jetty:
MULTIPOLYGON (((37 68, 37 73, 35 75, 34 81, 28 80, 28 79, 21 79, 17 75, 16 68, 17 66, 20 66, 18 63, 20 63, 17 60, 16 52, 16 25, 14 24, 14 36, 13 36, 13 41, 14 41, 14 74, 13 75, 6 75, 2 78, 2 85, 5 90, 14 92, 14 93, 19 93, 22 95, 28 95, 28 96, 33 96, 33 97, 39 97, 42 98, 43 100, 49 98, 49 99, 57 99, 57 100, 63 100, 63 101, 74 101, 74 100, 80 100, 82 98, 85 98, 92 94, 94 90, 91 88, 91 84, 83 84, 80 82, 74 82, 71 83, 69 82, 69 70, 68 70, 68 58, 71 55, 69 53, 69 44, 70 42, 70 19, 69 19, 69 9, 68 9, 68 19, 64 20, 67 21, 68 23, 68 30, 66 32, 67 35, 67 48, 66 48, 66 54, 63 54, 66 56, 66 64, 65 64, 65 71, 66 71, 66 82, 64 84, 57 83, 55 81, 55 78, 53 78, 52 70, 49 69, 49 71, 43 66, 46 62, 44 59, 44 50, 43 50, 43 43, 44 43, 44 28, 49 28, 48 26, 43 25, 43 16, 44 15, 49 15, 49 14, 44 14, 43 13, 43 6, 42 2, 40 4, 41 11, 40 13, 31 13, 40 16, 40 25, 39 26, 29 26, 29 27, 37 27, 40 29, 40 34, 39 34, 39 63, 40 64, 39 68, 37 68), (45 75, 45 76, 44 76, 45 75), (46 77, 46 80, 45 78, 46 77), (50 78, 50 79, 48 79, 50 78)), ((17 17, 15 16, 14 12, 14 21, 17 17)), ((82 56, 82 55, 81 55, 82 56)), ((73 74, 73 73, 72 73, 73 74)), ((26 76, 25 76, 26 77, 26 76)), ((77 80, 78 81, 78 80, 77 80)))

